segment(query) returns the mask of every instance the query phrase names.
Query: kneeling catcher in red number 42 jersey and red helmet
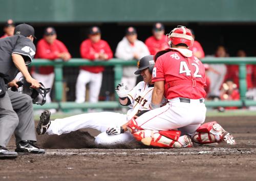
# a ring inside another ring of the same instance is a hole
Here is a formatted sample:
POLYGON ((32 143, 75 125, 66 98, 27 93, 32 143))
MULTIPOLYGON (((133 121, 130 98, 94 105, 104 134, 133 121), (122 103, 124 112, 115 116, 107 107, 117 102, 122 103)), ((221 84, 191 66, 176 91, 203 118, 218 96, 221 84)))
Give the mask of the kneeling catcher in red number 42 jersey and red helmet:
POLYGON ((152 82, 155 86, 150 104, 153 110, 132 119, 123 129, 131 131, 143 144, 157 147, 191 147, 190 137, 199 144, 221 141, 234 144, 232 135, 217 122, 201 125, 206 114, 205 68, 188 50, 194 41, 190 30, 178 26, 167 35, 170 48, 154 57, 152 82), (160 107, 163 96, 168 103, 160 107), (190 137, 177 143, 184 134, 190 137))

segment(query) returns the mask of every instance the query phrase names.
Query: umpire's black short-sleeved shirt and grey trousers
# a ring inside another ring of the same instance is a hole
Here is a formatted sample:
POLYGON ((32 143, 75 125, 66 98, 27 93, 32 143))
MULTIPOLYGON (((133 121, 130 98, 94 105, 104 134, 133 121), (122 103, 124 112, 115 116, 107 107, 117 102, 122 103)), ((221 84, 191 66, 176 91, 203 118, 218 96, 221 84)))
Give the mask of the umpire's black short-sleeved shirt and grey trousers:
POLYGON ((25 37, 26 35, 23 36, 20 32, 17 34, 20 35, 0 39, 0 146, 2 147, 7 146, 13 132, 16 144, 20 141, 36 141, 31 97, 12 92, 6 86, 19 72, 12 61, 12 54, 22 55, 27 65, 32 62, 35 55, 33 42, 25 37))

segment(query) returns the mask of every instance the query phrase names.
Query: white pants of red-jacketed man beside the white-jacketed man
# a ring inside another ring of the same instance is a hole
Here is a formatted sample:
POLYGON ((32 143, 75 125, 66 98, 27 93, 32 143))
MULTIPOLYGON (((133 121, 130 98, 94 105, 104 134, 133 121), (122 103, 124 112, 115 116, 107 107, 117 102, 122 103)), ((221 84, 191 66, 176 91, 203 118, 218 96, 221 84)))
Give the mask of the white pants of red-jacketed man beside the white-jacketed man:
POLYGON ((90 102, 98 102, 102 82, 102 73, 94 74, 80 70, 76 81, 76 103, 86 101, 86 84, 90 85, 90 102), (90 82, 90 83, 89 83, 90 82))

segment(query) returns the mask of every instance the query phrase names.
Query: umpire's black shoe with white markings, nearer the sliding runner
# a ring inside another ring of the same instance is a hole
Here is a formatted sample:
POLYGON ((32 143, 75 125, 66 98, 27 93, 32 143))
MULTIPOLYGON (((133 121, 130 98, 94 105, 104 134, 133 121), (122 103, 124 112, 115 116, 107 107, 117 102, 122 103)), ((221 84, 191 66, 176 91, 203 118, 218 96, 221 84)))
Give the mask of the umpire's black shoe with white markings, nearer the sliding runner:
POLYGON ((18 154, 27 154, 27 153, 34 153, 34 154, 45 154, 44 149, 40 149, 37 145, 34 144, 34 141, 23 140, 20 141, 16 145, 15 151, 18 154))

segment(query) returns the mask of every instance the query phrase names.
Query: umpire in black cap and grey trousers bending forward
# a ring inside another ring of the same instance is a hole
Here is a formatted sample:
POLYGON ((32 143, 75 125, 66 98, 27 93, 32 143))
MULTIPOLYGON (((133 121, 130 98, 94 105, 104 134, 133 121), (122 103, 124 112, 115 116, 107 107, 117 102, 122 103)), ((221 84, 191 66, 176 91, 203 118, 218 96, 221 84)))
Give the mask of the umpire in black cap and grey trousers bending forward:
POLYGON ((10 82, 17 86, 12 80, 19 71, 31 88, 40 87, 26 67, 35 55, 34 38, 34 28, 20 24, 15 27, 14 36, 0 39, 0 158, 15 158, 18 153, 45 153, 44 149, 34 144, 36 136, 31 97, 7 89, 10 82), (6 148, 13 132, 16 138, 15 152, 6 148))

